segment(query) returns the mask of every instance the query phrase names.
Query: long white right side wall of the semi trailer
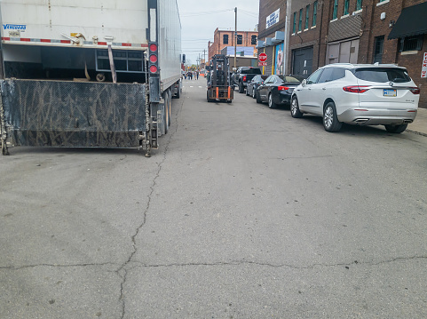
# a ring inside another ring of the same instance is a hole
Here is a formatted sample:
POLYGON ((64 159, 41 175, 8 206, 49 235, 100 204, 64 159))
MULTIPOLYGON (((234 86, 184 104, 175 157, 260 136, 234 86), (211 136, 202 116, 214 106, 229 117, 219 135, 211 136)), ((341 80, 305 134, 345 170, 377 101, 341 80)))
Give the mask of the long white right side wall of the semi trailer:
POLYGON ((181 20, 177 0, 159 0, 159 66, 163 89, 181 76, 181 20))

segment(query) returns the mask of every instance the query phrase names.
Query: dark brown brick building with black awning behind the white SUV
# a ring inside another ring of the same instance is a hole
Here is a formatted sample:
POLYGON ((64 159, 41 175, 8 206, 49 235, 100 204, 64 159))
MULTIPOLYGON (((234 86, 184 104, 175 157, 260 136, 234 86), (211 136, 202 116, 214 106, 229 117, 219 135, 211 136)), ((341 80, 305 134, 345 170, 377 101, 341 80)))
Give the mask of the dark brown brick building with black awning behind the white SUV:
POLYGON ((329 63, 394 63, 407 68, 427 108, 425 0, 298 0, 291 6, 289 73, 329 63))

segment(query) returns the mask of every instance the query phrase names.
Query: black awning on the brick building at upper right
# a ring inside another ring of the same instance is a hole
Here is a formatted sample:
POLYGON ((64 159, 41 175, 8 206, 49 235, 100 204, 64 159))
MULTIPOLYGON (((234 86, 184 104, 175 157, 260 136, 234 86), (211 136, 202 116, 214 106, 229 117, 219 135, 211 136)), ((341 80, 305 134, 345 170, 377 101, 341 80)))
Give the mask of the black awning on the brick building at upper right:
POLYGON ((427 2, 407 7, 391 29, 388 39, 405 36, 418 36, 427 33, 427 2))

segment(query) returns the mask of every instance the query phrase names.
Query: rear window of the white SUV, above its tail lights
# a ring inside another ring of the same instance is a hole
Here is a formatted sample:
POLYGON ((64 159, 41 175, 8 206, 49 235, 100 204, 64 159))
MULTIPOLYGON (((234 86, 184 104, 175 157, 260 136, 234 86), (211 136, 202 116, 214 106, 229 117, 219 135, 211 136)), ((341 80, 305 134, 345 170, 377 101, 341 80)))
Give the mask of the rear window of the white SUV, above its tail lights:
POLYGON ((354 75, 360 80, 370 82, 410 82, 411 78, 407 75, 407 71, 401 68, 358 68, 354 75))

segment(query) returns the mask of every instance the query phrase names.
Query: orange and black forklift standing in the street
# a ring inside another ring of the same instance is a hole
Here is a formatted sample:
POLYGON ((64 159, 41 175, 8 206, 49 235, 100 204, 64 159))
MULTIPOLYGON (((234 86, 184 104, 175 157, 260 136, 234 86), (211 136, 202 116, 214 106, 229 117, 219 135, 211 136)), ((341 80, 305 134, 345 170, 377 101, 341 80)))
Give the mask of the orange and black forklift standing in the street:
POLYGON ((208 80, 208 102, 233 101, 233 88, 230 85, 230 64, 228 57, 224 54, 215 54, 210 60, 208 80))

